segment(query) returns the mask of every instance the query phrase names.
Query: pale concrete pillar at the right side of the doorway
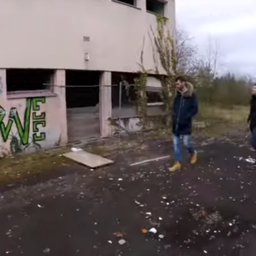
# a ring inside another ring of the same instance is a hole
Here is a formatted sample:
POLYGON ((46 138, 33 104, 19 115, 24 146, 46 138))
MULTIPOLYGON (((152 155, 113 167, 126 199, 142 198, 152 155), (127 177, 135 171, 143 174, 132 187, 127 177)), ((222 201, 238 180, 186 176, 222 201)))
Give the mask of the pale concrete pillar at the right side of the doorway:
POLYGON ((111 97, 111 72, 103 72, 100 79, 100 136, 110 137, 112 129, 110 118, 112 117, 111 97))

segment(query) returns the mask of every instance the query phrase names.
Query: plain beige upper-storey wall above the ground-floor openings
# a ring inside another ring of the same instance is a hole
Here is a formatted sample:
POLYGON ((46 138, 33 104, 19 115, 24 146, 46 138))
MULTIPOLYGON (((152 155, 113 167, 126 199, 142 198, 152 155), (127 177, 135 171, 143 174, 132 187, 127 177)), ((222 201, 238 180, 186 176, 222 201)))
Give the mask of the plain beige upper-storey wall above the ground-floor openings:
MULTIPOLYGON (((167 2, 172 29, 174 0, 167 2)), ((1 0, 0 68, 134 72, 139 70, 145 37, 144 65, 154 69, 148 32, 156 26, 156 16, 146 12, 146 0, 137 4, 138 8, 112 0, 1 0)))

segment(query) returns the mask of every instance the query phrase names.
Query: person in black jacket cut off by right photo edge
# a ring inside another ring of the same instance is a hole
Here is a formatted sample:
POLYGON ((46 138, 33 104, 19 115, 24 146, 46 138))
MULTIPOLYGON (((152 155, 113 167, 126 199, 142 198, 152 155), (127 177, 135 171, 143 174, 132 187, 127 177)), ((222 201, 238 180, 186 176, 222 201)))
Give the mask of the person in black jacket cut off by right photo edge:
MULTIPOLYGON (((252 133, 252 147, 256 151, 256 85, 252 87, 252 97, 250 100, 250 113, 247 119, 252 133)), ((256 168, 256 165, 254 166, 256 168)))

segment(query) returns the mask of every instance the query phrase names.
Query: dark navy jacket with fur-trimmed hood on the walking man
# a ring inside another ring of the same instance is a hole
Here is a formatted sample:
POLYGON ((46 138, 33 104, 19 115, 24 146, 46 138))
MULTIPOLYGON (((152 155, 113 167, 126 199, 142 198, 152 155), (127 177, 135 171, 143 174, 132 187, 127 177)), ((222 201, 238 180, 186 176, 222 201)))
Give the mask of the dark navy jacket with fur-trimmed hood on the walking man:
POLYGON ((186 82, 186 92, 176 90, 172 112, 172 129, 176 136, 192 133, 192 119, 198 113, 193 85, 186 82))

